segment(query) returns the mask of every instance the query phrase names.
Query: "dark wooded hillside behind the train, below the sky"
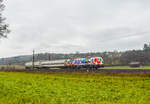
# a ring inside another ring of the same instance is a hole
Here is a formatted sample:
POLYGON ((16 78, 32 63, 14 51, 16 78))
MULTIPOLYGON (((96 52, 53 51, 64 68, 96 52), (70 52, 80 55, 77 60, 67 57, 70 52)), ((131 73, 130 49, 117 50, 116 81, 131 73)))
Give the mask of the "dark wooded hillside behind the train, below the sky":
MULTIPOLYGON (((130 62, 141 62, 143 65, 150 65, 150 44, 145 44, 143 50, 129 50, 125 52, 93 52, 93 53, 70 53, 70 54, 61 54, 61 53, 39 53, 35 54, 35 61, 40 60, 58 60, 58 59, 67 59, 70 57, 79 58, 79 57, 102 57, 104 59, 105 65, 129 65, 130 62)), ((1 65, 7 64, 20 64, 24 65, 26 62, 32 61, 32 55, 26 56, 17 56, 12 58, 3 58, 0 59, 1 65)))

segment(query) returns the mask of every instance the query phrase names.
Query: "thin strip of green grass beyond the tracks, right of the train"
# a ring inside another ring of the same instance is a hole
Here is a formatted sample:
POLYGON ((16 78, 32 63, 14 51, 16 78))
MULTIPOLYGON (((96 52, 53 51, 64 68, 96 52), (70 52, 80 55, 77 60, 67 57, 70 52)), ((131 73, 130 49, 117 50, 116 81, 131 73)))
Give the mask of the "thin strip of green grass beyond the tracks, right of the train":
POLYGON ((113 67, 104 67, 101 69, 150 69, 150 66, 142 66, 142 67, 113 66, 113 67))

